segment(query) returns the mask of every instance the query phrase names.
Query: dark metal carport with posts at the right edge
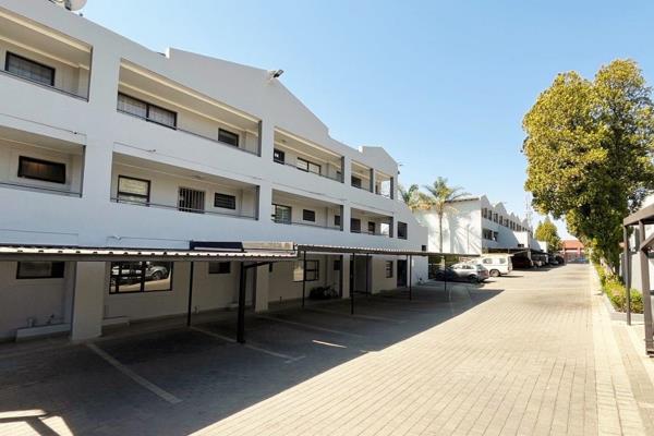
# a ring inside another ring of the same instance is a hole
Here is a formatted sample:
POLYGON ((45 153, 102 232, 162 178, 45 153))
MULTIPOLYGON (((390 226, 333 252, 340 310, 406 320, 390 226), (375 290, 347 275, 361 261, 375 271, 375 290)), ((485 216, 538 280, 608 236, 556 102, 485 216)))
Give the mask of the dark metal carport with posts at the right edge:
MULTIPOLYGON (((635 246, 633 251, 638 253, 640 264, 641 292, 643 296, 643 317, 645 324, 645 351, 654 355, 654 325, 652 319, 652 288, 650 283, 650 258, 652 247, 654 246, 654 233, 647 237, 646 226, 654 225, 654 204, 642 208, 641 210, 628 216, 622 221, 623 225, 623 277, 625 286, 631 289, 631 247, 629 232, 634 230, 635 246)), ((627 292, 627 324, 631 324, 631 293, 627 292)))

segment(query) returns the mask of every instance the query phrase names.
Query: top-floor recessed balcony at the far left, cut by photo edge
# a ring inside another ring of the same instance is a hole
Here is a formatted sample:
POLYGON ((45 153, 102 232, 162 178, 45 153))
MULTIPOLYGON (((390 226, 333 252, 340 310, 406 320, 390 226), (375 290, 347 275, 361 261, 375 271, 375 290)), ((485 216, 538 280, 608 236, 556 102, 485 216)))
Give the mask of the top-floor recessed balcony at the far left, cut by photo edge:
POLYGON ((1 75, 88 99, 92 47, 0 10, 1 75))

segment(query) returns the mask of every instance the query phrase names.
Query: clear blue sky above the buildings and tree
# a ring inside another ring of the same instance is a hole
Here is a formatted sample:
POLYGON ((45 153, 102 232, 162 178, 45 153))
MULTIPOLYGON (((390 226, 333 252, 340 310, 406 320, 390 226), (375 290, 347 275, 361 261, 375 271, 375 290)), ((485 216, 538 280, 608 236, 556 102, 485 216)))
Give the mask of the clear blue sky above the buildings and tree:
POLYGON ((651 1, 89 0, 83 13, 153 50, 283 69, 332 137, 384 146, 403 184, 447 177, 520 215, 521 121, 555 75, 616 58, 654 71, 651 1))

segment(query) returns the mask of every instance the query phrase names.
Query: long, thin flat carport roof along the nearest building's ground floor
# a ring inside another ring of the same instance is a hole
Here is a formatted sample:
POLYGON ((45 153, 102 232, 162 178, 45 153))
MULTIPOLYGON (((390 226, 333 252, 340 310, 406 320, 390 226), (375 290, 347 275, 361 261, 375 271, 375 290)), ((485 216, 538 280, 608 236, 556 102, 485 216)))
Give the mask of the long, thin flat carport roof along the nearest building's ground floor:
POLYGON ((0 245, 0 261, 288 261, 298 258, 294 250, 217 251, 217 250, 161 250, 111 249, 81 246, 25 246, 0 245))

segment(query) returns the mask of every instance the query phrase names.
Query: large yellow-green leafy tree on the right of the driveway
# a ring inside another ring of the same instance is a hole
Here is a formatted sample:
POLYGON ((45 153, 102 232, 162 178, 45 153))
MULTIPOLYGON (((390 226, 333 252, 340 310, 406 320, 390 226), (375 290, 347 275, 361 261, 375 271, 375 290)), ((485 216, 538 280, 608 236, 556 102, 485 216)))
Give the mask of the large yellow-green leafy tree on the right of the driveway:
POLYGON ((622 219, 654 189, 654 106, 638 64, 616 60, 593 81, 559 74, 523 120, 533 206, 614 270, 622 219))

